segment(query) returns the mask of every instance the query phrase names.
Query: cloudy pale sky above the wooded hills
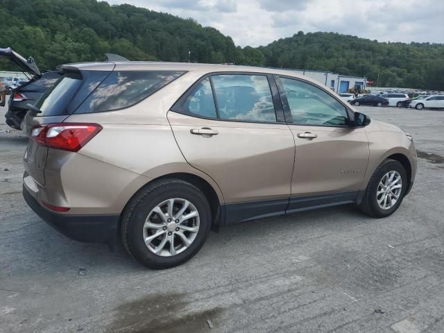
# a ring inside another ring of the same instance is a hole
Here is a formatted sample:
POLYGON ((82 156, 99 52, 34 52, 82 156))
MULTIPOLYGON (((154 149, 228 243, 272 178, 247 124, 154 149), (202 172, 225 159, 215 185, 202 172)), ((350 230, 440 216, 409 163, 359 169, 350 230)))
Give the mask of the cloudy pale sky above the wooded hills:
POLYGON ((107 0, 192 17, 240 46, 298 31, 332 31, 380 42, 444 42, 444 0, 107 0))

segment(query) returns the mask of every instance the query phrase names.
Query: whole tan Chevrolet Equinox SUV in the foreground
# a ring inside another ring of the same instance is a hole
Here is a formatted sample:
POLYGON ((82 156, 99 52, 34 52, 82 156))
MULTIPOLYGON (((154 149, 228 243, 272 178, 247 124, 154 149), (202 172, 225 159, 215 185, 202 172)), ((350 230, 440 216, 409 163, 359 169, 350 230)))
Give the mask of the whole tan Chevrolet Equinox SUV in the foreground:
POLYGON ((345 203, 389 216, 413 185, 411 135, 294 71, 61 70, 26 114, 24 198, 73 239, 121 237, 148 267, 186 262, 228 223, 345 203))

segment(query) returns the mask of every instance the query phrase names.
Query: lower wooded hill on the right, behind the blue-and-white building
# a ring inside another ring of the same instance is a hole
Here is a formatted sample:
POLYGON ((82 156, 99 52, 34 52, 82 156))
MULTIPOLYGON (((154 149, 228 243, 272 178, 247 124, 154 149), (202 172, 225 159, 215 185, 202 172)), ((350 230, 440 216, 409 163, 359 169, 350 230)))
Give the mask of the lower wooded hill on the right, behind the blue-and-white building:
POLYGON ((260 46, 266 66, 367 76, 380 87, 444 89, 444 44, 385 43, 339 33, 307 33, 260 46))

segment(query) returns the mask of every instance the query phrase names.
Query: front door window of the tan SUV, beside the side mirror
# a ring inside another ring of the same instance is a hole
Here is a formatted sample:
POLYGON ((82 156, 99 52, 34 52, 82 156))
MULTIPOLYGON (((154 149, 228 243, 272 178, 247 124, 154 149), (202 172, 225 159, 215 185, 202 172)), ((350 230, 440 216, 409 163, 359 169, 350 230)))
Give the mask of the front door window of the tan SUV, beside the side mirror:
POLYGON ((322 89, 299 80, 281 78, 284 85, 293 123, 345 126, 348 113, 342 103, 322 89))

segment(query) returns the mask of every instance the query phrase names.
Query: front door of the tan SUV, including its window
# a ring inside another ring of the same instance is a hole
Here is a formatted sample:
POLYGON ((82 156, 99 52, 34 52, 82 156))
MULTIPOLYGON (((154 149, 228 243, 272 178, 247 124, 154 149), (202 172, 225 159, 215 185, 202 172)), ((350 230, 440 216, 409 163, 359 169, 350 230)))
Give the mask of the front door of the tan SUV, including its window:
POLYGON ((289 212, 355 200, 368 165, 364 128, 350 127, 345 105, 323 89, 302 80, 278 80, 296 143, 289 212))

